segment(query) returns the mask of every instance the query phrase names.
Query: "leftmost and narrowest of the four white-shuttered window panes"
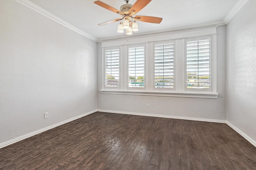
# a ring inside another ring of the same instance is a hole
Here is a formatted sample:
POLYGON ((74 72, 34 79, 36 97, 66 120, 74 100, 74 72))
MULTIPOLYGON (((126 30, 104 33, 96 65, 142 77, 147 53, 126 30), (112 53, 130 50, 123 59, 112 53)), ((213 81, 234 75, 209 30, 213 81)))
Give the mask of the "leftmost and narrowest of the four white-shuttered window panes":
POLYGON ((119 69, 120 49, 105 49, 105 87, 119 88, 120 69, 119 69))

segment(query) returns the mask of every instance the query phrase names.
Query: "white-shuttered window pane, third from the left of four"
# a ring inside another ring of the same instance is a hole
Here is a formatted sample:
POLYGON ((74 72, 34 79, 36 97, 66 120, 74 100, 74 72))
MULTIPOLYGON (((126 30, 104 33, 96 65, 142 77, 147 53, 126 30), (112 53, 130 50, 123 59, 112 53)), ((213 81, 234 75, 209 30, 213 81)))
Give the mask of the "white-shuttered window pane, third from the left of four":
POLYGON ((174 80, 174 42, 154 43, 154 90, 173 90, 174 80))

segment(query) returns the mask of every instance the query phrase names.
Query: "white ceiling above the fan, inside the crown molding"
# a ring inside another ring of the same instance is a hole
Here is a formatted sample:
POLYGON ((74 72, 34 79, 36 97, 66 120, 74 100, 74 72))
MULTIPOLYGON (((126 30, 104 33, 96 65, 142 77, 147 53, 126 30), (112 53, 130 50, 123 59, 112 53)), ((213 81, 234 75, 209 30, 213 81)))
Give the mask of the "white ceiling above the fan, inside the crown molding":
MULTIPOLYGON (((96 39, 125 37, 117 33, 118 22, 99 26, 109 20, 120 18, 118 14, 108 11, 93 2, 95 0, 30 0, 44 10, 67 21, 78 29, 96 39)), ((101 0, 120 9, 123 0, 101 0)), ((160 24, 138 21, 139 31, 134 35, 161 32, 175 28, 221 23, 239 0, 152 0, 136 15, 163 18, 160 24)), ((132 0, 130 4, 134 4, 132 0)))

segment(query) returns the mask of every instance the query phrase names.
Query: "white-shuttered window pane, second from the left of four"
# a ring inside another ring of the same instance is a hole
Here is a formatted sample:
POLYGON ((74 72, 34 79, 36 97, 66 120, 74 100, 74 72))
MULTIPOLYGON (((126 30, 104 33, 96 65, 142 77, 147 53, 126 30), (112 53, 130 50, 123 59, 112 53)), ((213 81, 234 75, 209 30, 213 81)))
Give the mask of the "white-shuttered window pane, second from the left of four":
POLYGON ((128 87, 144 88, 145 83, 145 46, 136 45, 128 47, 128 87))

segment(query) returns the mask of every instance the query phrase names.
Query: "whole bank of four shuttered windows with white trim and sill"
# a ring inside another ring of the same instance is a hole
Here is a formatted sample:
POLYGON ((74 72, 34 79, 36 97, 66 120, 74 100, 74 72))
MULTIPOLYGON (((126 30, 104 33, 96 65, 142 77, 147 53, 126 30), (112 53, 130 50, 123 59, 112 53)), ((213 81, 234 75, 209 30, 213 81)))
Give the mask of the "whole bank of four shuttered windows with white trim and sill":
POLYGON ((101 93, 218 98, 216 28, 101 42, 101 93))

